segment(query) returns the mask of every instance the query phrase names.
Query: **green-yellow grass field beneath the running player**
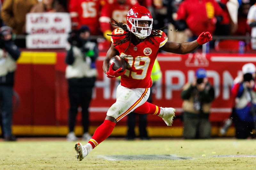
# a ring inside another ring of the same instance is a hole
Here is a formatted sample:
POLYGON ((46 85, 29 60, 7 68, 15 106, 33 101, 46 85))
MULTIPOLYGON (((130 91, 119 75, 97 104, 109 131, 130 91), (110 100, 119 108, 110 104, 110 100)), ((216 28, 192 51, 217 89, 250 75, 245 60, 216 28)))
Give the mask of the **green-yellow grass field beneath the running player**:
MULTIPOLYGON (((0 169, 40 170, 167 170, 256 168, 252 139, 152 139, 126 141, 109 138, 81 162, 65 138, 28 138, 0 142, 0 169)), ((82 141, 82 144, 85 144, 82 141)))

